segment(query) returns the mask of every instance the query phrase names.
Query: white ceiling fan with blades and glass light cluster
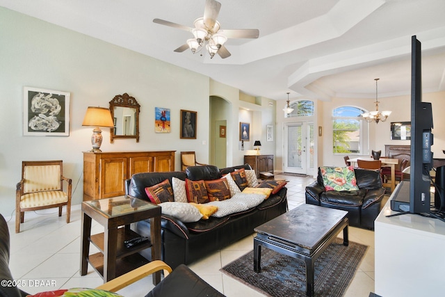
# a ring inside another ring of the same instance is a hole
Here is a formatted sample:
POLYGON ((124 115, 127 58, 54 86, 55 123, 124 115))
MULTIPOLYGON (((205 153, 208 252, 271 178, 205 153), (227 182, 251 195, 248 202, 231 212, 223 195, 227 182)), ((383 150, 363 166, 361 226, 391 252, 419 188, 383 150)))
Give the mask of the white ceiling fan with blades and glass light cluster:
MULTIPOLYGON (((170 26, 176 29, 191 32, 193 38, 187 40, 185 45, 181 45, 176 52, 181 53, 186 49, 191 49, 193 54, 200 52, 204 47, 209 51, 210 58, 215 54, 221 58, 227 58, 231 54, 224 46, 227 38, 258 38, 258 29, 232 29, 220 30, 220 23, 216 20, 220 13, 221 3, 215 0, 206 0, 204 17, 199 17, 193 22, 194 28, 168 22, 163 19, 153 19, 156 24, 170 26)), ((201 53, 202 56, 202 53, 201 53)))

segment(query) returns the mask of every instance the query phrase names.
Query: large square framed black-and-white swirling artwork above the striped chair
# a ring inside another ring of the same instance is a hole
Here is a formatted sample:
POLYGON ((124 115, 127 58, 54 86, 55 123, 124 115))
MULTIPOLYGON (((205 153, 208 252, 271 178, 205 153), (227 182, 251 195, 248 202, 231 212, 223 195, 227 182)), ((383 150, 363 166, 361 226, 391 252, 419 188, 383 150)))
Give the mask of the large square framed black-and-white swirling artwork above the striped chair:
POLYGON ((24 87, 24 136, 70 136, 70 93, 24 87))

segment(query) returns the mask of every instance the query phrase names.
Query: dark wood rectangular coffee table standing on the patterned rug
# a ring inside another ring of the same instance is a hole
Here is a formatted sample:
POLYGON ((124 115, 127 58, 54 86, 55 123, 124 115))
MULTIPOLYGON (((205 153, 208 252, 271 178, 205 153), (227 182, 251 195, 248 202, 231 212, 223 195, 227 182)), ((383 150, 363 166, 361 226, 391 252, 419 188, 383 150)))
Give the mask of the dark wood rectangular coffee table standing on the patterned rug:
POLYGON ((348 211, 302 204, 256 227, 254 271, 261 271, 261 246, 302 259, 306 264, 306 295, 314 295, 314 262, 343 230, 348 246, 348 211))

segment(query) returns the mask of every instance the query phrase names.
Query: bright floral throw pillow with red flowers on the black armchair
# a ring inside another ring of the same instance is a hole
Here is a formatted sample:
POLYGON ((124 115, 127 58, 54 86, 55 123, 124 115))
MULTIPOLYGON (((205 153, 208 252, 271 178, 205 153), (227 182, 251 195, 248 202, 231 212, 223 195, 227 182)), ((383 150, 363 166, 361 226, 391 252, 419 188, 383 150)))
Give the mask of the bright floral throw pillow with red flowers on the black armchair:
POLYGON ((353 166, 321 167, 321 176, 326 191, 358 191, 353 166))

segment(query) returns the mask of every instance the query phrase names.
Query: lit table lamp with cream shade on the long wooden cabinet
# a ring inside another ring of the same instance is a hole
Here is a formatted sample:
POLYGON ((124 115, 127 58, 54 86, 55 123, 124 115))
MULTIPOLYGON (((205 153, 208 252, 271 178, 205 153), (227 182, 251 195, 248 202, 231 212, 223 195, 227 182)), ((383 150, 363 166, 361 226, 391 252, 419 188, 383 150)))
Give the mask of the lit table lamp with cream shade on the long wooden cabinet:
POLYGON ((92 150, 90 150, 90 152, 102 152, 102 150, 100 150, 100 145, 102 145, 102 130, 99 127, 114 127, 110 110, 99 106, 88 106, 82 126, 95 127, 95 129, 92 130, 92 150))

